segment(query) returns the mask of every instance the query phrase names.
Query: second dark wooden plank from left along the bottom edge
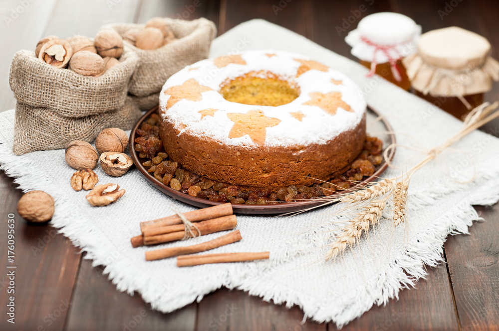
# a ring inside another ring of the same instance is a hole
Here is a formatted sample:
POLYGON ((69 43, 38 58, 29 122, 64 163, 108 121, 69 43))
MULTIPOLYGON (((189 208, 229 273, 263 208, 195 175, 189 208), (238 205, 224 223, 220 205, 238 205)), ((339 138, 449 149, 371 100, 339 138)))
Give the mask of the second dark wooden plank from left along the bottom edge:
POLYGON ((102 270, 82 260, 65 330, 194 330, 195 303, 171 314, 153 311, 139 294, 118 292, 102 270))

